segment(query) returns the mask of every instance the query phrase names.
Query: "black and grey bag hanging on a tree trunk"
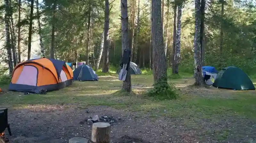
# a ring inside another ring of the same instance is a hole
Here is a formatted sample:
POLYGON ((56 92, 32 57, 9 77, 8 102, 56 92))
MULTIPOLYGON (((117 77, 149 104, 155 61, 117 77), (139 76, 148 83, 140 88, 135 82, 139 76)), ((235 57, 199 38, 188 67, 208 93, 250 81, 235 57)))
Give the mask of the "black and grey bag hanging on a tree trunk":
POLYGON ((130 67, 130 60, 131 60, 131 50, 125 49, 122 57, 122 62, 120 64, 120 67, 121 67, 121 70, 119 72, 120 81, 124 81, 126 79, 126 75, 130 67))

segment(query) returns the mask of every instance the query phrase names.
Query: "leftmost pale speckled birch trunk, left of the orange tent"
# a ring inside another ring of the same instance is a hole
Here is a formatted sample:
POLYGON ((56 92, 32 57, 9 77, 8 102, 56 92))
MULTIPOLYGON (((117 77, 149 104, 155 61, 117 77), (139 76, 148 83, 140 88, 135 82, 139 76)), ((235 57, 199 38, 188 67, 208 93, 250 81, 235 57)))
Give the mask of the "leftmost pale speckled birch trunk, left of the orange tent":
POLYGON ((12 77, 13 71, 13 64, 12 64, 12 51, 11 51, 11 39, 10 39, 10 7, 9 7, 9 0, 4 0, 5 3, 5 37, 6 37, 6 44, 5 48, 7 50, 7 57, 8 57, 8 66, 9 66, 9 74, 12 77))

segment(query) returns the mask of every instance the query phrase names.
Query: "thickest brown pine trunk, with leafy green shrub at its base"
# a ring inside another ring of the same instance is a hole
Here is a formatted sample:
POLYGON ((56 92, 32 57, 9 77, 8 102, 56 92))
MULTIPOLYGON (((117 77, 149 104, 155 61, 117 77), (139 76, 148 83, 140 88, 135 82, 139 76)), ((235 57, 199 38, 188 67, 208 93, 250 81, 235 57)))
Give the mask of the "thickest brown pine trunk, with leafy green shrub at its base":
POLYGON ((166 58, 164 54, 161 0, 152 0, 152 44, 154 82, 167 82, 166 58))

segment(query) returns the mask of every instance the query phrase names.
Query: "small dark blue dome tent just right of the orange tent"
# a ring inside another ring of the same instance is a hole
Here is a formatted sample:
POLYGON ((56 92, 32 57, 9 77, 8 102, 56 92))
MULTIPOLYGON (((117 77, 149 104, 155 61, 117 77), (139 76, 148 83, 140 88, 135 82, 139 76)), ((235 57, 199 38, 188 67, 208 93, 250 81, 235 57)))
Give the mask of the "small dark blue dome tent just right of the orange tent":
POLYGON ((74 80, 76 81, 98 81, 98 75, 89 66, 83 64, 78 66, 74 71, 74 80))

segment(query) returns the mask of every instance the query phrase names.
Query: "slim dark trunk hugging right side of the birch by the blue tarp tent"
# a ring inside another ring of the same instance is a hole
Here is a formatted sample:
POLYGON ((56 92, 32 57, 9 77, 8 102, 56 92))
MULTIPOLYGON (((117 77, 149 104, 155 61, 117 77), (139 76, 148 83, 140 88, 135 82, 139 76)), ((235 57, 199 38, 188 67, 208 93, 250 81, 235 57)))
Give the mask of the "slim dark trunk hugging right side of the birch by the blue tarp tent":
POLYGON ((201 59, 202 66, 204 66, 204 13, 205 13, 205 0, 201 0, 201 24, 200 24, 200 44, 201 44, 201 59))

